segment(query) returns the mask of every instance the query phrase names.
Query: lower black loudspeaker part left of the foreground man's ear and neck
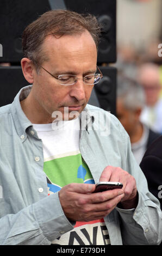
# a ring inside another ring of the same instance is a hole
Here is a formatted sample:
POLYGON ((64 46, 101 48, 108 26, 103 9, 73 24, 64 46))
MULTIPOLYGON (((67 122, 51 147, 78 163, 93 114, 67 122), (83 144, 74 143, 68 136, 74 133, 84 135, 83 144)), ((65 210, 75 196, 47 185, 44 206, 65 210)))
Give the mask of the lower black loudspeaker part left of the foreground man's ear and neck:
POLYGON ((28 86, 21 66, 0 66, 0 107, 12 103, 19 90, 28 86))

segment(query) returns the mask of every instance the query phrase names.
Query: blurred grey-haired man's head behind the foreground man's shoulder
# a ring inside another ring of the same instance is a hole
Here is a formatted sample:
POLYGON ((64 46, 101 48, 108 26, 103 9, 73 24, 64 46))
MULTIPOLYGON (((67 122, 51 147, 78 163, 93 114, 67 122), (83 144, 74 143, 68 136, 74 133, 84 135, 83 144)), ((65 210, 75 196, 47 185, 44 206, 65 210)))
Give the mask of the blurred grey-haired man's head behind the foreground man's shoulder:
POLYGON ((131 137, 140 123, 145 94, 140 84, 126 77, 117 81, 117 118, 131 137))

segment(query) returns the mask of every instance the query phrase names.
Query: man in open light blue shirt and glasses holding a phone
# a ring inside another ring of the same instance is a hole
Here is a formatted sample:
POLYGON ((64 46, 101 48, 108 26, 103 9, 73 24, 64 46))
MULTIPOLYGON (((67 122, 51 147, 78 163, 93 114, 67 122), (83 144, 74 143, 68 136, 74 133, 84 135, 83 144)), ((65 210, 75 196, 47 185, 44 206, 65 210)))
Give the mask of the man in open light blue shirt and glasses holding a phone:
POLYGON ((161 241, 159 202, 127 133, 113 115, 86 106, 102 77, 98 34, 94 17, 67 10, 43 14, 23 33, 22 71, 33 86, 1 108, 3 245, 161 241), (109 118, 110 134, 102 129, 109 118), (123 188, 93 193, 98 181, 123 188))

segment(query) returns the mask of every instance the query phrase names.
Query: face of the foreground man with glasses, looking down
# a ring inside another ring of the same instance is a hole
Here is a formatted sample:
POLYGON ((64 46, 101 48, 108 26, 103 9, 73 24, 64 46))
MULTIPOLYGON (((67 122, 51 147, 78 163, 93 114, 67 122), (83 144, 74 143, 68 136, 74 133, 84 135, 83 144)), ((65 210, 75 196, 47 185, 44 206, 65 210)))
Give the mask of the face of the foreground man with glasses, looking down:
MULTIPOLYGON (((96 72, 97 50, 89 32, 60 38, 49 35, 43 43, 43 50, 49 60, 41 66, 52 75, 70 74, 82 78, 96 72)), ((64 119, 64 107, 68 107, 68 114, 83 111, 93 87, 84 84, 83 79, 74 85, 63 86, 40 68, 39 74, 34 71, 32 95, 36 107, 44 115, 51 117, 54 111, 60 111, 64 119)))

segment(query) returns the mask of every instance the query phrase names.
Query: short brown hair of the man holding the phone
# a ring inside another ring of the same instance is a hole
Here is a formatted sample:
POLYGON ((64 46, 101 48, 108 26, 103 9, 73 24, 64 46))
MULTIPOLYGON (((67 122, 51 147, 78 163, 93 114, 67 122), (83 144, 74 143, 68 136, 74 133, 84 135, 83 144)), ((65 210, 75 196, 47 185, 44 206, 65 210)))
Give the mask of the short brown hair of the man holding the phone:
POLYGON ((32 60, 36 70, 47 60, 42 51, 42 44, 49 34, 54 36, 73 35, 89 31, 98 48, 101 27, 95 16, 78 14, 70 10, 51 10, 32 22, 22 34, 22 50, 26 58, 32 60))

